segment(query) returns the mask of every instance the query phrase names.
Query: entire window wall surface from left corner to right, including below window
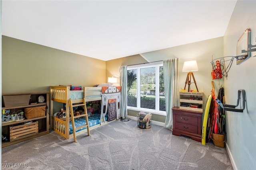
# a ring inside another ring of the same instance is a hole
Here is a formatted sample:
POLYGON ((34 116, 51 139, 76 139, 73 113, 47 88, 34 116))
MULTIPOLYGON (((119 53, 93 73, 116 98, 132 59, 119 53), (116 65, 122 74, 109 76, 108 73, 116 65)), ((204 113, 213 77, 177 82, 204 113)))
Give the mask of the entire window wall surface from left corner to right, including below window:
MULTIPOLYGON (((204 92, 204 106, 206 104, 206 98, 211 94, 212 90, 212 65, 210 61, 219 57, 223 57, 223 37, 214 39, 208 39, 205 41, 199 41, 196 43, 190 43, 186 45, 180 45, 177 47, 171 47, 168 49, 162 49, 158 51, 152 51, 143 53, 140 55, 134 55, 130 57, 124 57, 106 62, 106 75, 118 74, 118 67, 120 65, 131 65, 138 63, 148 63, 147 61, 161 61, 166 59, 179 58, 179 89, 184 88, 187 72, 182 72, 184 61, 196 60, 198 64, 198 71, 194 72, 196 84, 199 91, 204 92)), ((214 86, 216 87, 216 94, 218 93, 218 84, 223 85, 223 78, 221 80, 214 80, 214 86)), ((191 89, 196 89, 194 84, 191 85, 191 89)), ((138 111, 128 110, 128 115, 135 116, 138 111)), ((165 116, 153 115, 152 120, 165 122, 165 116)))

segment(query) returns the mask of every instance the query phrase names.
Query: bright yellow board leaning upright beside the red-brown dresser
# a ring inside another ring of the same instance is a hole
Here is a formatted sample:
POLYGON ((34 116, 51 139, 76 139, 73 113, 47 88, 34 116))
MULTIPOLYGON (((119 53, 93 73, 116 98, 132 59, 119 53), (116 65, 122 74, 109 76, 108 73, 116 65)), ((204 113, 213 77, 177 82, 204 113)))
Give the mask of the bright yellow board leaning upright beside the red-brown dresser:
POLYGON ((203 127, 202 127, 202 145, 205 145, 206 143, 206 138, 207 138, 206 131, 208 127, 208 115, 210 111, 211 102, 212 102, 212 95, 209 95, 208 100, 206 102, 206 107, 204 110, 204 120, 203 120, 203 127))

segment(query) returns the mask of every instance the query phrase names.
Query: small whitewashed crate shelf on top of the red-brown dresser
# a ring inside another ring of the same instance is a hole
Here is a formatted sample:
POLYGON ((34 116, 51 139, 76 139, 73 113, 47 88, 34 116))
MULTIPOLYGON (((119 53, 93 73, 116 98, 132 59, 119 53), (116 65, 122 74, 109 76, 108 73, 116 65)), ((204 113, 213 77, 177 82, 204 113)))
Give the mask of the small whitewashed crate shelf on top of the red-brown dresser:
POLYGON ((203 92, 180 92, 180 109, 203 112, 203 92))

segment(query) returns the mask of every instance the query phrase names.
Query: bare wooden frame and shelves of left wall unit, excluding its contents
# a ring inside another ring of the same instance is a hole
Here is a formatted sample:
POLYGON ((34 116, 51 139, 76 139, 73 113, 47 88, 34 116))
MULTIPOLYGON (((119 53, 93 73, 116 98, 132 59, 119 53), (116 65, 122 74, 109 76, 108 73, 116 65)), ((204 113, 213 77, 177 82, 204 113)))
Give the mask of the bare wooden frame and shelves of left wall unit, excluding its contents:
MULTIPOLYGON (((15 98, 15 96, 19 96, 19 95, 30 95, 30 101, 28 103, 28 105, 24 105, 24 106, 10 106, 10 107, 5 107, 4 106, 4 102, 3 106, 2 106, 2 110, 7 110, 10 109, 10 114, 13 112, 17 112, 17 111, 24 111, 24 108, 26 107, 35 107, 35 106, 46 106, 46 115, 45 116, 41 116, 41 117, 35 117, 32 119, 23 119, 23 120, 18 120, 18 121, 6 121, 6 122, 2 122, 2 135, 6 136, 8 141, 2 141, 2 148, 3 147, 8 147, 10 145, 14 145, 16 143, 20 143, 23 141, 27 141, 29 139, 33 139, 42 135, 46 135, 49 133, 49 114, 48 114, 48 107, 49 107, 49 94, 50 92, 38 92, 38 93, 8 93, 8 94, 2 94, 2 100, 3 100, 3 96, 13 96, 15 98), (38 97, 39 96, 44 96, 44 103, 38 103, 38 104, 30 104, 32 102, 38 102, 38 97), (16 141, 12 141, 10 142, 10 127, 11 126, 18 126, 21 125, 21 123, 27 122, 27 121, 38 121, 38 134, 32 135, 32 136, 28 136, 26 138, 23 139, 18 139, 16 141)), ((25 115, 24 115, 25 117, 25 115)))

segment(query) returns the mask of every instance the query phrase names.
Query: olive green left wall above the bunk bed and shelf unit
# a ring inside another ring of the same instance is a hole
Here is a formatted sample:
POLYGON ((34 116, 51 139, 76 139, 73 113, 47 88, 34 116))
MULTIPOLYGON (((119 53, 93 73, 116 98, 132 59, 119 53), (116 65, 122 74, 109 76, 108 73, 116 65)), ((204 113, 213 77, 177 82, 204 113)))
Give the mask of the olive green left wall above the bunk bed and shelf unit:
POLYGON ((2 36, 2 93, 94 86, 105 79, 105 61, 2 36))

